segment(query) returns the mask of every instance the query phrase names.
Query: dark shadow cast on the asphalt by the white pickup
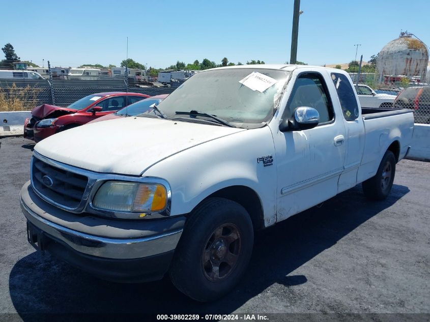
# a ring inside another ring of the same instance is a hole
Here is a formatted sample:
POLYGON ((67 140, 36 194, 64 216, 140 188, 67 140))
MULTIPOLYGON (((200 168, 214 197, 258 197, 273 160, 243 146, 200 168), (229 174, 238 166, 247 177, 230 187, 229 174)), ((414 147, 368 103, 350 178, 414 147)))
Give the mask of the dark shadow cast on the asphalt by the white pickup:
POLYGON ((214 303, 188 299, 167 278, 146 284, 112 283, 36 252, 13 267, 10 296, 24 320, 30 320, 28 313, 231 313, 274 283, 285 287, 305 283, 305 276, 289 274, 408 192, 407 187, 394 185, 386 200, 370 202, 356 186, 321 208, 257 233, 244 278, 231 294, 214 303))

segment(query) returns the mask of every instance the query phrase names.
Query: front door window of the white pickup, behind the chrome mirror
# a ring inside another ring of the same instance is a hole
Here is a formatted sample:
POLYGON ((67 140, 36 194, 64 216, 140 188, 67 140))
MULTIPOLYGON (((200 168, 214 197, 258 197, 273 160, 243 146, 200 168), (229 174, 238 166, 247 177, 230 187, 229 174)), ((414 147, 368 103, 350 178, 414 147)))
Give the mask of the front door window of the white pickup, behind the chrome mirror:
POLYGON ((333 108, 327 94, 324 79, 316 73, 300 75, 293 86, 286 111, 291 118, 294 110, 301 106, 313 107, 320 114, 320 123, 327 123, 333 120, 333 108))

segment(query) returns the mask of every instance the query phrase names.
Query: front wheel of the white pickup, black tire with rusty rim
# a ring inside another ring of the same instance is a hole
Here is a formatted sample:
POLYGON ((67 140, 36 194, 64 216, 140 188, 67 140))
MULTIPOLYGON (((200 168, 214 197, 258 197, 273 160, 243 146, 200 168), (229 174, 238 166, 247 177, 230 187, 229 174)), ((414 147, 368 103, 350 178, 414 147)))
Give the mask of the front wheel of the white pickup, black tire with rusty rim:
POLYGON ((208 302, 231 291, 252 253, 253 227, 237 202, 209 198, 191 213, 170 268, 170 279, 188 297, 208 302))

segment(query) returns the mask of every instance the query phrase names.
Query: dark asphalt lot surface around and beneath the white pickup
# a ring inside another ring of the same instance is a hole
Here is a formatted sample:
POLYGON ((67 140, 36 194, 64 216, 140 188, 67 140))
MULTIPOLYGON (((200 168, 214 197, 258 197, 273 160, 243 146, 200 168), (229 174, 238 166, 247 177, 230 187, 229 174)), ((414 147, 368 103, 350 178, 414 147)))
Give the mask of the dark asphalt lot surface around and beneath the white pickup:
POLYGON ((22 137, 0 142, 0 313, 15 313, 4 317, 430 312, 430 163, 401 161, 385 201, 367 201, 357 186, 259 232, 239 286, 220 301, 201 304, 167 278, 117 284, 37 254, 26 241, 18 201, 33 144, 22 137))

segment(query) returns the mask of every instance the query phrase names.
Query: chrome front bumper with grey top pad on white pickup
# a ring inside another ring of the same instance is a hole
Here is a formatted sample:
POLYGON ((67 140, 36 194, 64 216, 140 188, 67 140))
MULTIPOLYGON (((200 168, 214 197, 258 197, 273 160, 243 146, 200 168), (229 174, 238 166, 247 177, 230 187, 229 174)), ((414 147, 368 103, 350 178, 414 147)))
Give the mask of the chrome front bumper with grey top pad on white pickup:
POLYGON ((136 221, 72 214, 42 200, 30 181, 21 189, 20 203, 26 219, 53 240, 81 254, 109 259, 136 259, 171 252, 185 223, 183 216, 136 221))

